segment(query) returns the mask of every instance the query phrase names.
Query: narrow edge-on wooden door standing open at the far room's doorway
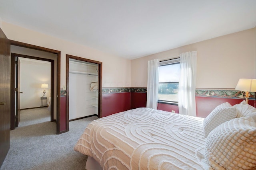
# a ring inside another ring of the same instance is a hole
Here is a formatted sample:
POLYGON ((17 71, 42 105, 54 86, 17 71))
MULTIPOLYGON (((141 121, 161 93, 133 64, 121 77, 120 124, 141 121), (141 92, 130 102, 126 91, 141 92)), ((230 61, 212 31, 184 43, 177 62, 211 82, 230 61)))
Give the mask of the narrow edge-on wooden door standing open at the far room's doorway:
POLYGON ((15 127, 18 127, 20 123, 20 59, 16 58, 16 117, 15 127))

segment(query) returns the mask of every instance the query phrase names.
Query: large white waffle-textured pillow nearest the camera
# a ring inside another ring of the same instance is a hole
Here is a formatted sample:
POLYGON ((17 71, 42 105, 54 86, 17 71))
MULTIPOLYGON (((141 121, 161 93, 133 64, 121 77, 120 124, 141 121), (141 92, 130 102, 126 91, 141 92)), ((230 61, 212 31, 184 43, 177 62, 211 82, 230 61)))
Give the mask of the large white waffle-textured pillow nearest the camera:
POLYGON ((206 138, 205 160, 213 169, 256 169, 256 122, 240 117, 216 127, 206 138))

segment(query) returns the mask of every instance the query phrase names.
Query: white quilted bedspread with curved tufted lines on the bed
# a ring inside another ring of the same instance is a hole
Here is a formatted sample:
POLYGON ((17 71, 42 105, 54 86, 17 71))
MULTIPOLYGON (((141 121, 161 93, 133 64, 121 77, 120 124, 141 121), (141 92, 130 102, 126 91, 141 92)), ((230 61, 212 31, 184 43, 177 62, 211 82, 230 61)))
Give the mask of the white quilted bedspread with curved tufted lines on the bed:
POLYGON ((74 150, 103 169, 204 169, 203 118, 149 108, 92 121, 74 150))

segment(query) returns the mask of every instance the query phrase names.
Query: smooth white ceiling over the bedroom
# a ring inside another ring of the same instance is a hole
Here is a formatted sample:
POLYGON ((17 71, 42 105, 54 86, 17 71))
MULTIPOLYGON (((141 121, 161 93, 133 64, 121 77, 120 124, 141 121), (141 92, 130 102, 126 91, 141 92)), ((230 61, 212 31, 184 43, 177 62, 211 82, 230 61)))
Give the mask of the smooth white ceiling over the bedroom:
POLYGON ((135 59, 256 26, 256 0, 0 0, 2 21, 135 59))

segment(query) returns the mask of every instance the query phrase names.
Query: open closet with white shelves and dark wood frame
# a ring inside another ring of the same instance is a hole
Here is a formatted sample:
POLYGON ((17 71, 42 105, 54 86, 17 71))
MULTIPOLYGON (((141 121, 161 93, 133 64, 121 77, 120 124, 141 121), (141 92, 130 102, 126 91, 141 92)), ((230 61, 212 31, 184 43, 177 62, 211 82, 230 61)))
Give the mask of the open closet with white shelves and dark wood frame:
POLYGON ((69 121, 102 117, 102 62, 66 55, 66 84, 67 129, 69 121))

